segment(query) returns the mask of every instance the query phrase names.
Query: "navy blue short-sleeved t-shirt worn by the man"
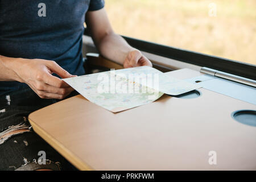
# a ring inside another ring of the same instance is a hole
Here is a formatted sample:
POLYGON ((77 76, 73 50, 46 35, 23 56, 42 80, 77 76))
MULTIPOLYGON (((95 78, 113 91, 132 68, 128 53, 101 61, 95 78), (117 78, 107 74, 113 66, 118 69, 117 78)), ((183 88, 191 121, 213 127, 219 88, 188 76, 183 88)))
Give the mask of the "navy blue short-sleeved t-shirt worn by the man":
MULTIPOLYGON (((85 13, 102 7, 104 0, 0 0, 0 55, 53 60, 72 75, 84 75, 85 13)), ((0 81, 0 95, 25 85, 0 81)))

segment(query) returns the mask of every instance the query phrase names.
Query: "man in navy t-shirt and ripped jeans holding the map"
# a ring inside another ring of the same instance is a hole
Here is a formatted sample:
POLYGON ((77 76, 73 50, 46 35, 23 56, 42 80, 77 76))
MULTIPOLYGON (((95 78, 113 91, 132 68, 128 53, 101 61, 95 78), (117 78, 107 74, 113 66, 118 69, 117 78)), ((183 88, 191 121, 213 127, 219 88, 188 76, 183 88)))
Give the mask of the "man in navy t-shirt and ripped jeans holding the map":
POLYGON ((152 66, 113 32, 103 0, 0 0, 1 170, 72 169, 27 116, 75 94, 61 78, 85 74, 84 21, 102 56, 125 68, 152 66))

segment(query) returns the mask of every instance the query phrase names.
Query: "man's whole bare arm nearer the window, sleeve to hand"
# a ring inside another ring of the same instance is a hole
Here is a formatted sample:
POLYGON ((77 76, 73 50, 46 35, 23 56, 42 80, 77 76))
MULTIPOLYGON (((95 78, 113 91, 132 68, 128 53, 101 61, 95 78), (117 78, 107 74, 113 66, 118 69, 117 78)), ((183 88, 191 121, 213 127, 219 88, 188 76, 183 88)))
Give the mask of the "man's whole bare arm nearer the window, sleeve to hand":
POLYGON ((88 11, 86 24, 102 56, 123 64, 125 68, 141 65, 152 66, 141 51, 131 47, 125 39, 115 34, 105 9, 88 11))

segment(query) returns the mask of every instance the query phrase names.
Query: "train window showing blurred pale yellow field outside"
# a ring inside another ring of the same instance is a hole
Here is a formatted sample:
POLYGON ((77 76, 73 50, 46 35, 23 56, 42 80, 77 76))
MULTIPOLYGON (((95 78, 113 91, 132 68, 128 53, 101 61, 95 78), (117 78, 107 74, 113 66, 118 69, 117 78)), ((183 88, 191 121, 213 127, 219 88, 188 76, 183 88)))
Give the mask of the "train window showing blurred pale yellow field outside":
POLYGON ((256 64, 255 0, 108 0, 118 34, 256 64))

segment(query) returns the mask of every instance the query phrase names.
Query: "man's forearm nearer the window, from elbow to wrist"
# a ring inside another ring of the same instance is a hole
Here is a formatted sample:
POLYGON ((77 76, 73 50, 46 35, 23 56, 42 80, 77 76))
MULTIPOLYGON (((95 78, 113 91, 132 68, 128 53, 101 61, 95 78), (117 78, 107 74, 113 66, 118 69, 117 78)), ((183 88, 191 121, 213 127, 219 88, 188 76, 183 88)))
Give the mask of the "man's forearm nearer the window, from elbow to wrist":
POLYGON ((127 54, 135 49, 114 32, 104 36, 104 38, 96 43, 96 47, 102 56, 119 64, 123 64, 127 54))

